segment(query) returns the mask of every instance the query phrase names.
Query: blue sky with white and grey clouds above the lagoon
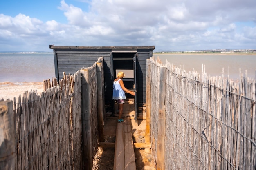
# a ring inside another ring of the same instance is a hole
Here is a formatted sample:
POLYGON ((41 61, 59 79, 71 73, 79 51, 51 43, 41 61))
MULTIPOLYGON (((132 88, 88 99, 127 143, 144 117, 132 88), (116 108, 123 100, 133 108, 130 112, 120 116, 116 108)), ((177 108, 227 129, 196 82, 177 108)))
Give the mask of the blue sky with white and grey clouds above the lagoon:
POLYGON ((7 0, 0 51, 55 46, 256 49, 256 0, 7 0))

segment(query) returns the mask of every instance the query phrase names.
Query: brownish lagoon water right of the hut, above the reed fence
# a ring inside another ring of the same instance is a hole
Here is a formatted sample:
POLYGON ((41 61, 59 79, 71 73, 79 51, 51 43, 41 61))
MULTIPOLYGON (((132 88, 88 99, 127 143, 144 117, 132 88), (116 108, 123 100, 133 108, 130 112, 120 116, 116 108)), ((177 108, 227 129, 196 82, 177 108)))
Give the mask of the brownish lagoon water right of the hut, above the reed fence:
POLYGON ((166 60, 175 66, 184 68, 186 72, 196 71, 202 73, 202 65, 207 75, 211 77, 222 76, 230 79, 240 79, 240 69, 243 76, 247 70, 247 77, 255 79, 256 53, 254 54, 183 54, 183 53, 153 53, 162 63, 166 60))

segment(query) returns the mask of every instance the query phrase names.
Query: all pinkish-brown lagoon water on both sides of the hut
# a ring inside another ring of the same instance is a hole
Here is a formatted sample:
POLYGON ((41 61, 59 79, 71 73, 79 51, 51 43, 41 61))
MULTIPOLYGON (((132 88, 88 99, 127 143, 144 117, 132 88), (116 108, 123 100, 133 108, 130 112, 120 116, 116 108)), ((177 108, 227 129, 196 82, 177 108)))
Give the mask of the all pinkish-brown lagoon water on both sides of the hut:
MULTIPOLYGON (((202 64, 207 75, 239 79, 247 70, 248 77, 255 78, 256 54, 159 54, 153 53, 163 63, 168 60, 176 66, 182 66, 186 72, 193 69, 202 73, 202 64)), ((44 79, 55 77, 53 53, 0 53, 0 82, 43 82, 44 79)))

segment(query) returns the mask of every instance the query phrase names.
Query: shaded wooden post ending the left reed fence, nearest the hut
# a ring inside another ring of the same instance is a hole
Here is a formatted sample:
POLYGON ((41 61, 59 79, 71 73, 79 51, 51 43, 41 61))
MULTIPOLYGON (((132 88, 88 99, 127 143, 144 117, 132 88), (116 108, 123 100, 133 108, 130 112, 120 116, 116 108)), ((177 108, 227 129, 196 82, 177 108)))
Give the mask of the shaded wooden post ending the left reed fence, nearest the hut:
POLYGON ((97 63, 97 99, 98 99, 98 132, 99 132, 99 142, 104 142, 103 133, 103 93, 102 93, 102 73, 101 73, 101 63, 97 63))

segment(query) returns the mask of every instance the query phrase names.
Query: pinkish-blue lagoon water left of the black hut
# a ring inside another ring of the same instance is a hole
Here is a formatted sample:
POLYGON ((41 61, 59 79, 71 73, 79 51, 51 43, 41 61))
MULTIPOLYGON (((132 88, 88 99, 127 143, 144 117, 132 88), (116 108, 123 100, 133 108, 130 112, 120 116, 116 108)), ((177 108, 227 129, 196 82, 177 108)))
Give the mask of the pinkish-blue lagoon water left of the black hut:
POLYGON ((55 77, 53 53, 0 53, 0 82, 43 82, 55 77))

